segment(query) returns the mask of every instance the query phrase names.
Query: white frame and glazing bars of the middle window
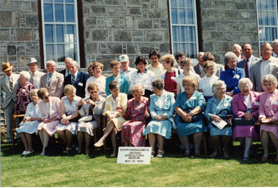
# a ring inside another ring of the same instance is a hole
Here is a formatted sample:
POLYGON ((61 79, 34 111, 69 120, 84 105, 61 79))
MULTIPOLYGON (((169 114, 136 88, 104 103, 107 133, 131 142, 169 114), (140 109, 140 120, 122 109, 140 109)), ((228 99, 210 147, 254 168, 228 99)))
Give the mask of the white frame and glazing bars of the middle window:
MULTIPOLYGON (((185 0, 183 0, 185 1, 185 0)), ((193 64, 195 64, 197 62, 197 55, 199 53, 199 38, 198 38, 198 26, 197 26, 197 9, 196 9, 196 1, 195 0, 192 0, 193 2, 193 10, 194 10, 194 16, 195 16, 195 24, 172 24, 172 5, 171 5, 171 0, 169 0, 169 10, 170 10, 170 31, 171 31, 171 47, 172 47, 172 53, 174 53, 174 43, 177 43, 177 42, 174 42, 173 41, 173 30, 172 30, 172 26, 195 26, 195 36, 196 36, 196 52, 197 54, 195 54, 195 57, 196 58, 191 58, 191 60, 193 60, 193 64)), ((179 2, 177 2, 179 3, 179 2)), ((186 1, 185 1, 186 3, 186 1)), ((179 9, 179 6, 177 6, 177 8, 179 9)), ((177 13, 178 17, 178 23, 179 23, 179 12, 177 13)), ((186 33, 186 35, 188 35, 186 33)), ((180 38, 181 38, 181 32, 180 32, 180 38)), ((187 43, 187 44, 190 44, 190 43, 193 43, 193 42, 179 42, 179 44, 183 44, 183 43, 187 43)), ((195 42, 194 42, 195 43, 195 42)), ((181 51, 182 53, 186 53, 186 51, 181 51)), ((186 55, 188 56, 188 53, 186 53, 186 55)), ((189 57, 190 58, 190 57, 189 57)))

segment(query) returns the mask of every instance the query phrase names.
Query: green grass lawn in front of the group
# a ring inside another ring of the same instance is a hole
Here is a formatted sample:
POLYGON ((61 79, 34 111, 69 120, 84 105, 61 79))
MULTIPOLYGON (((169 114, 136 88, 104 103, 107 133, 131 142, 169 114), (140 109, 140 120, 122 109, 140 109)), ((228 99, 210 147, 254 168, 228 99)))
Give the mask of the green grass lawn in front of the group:
POLYGON ((165 144, 165 157, 154 157, 151 164, 117 164, 99 150, 91 155, 58 154, 22 157, 23 144, 16 150, 1 144, 1 187, 277 187, 278 165, 275 153, 268 162, 261 162, 261 145, 255 144, 258 155, 241 160, 243 151, 235 142, 231 159, 183 158, 183 151, 165 144))

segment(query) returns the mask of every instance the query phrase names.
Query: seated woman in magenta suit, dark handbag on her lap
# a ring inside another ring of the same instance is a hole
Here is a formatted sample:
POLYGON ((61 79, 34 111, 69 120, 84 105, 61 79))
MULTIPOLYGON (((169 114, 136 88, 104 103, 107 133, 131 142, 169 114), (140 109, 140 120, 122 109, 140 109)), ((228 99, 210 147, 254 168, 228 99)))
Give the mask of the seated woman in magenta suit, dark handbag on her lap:
MULTIPOLYGON (((235 117, 245 118, 246 120, 257 119, 259 110, 258 92, 252 92, 253 84, 249 78, 241 78, 238 82, 240 89, 239 94, 233 96, 232 107, 235 117)), ((259 140, 259 135, 256 133, 255 126, 238 126, 235 125, 233 138, 245 138, 245 151, 243 160, 249 160, 250 148, 253 140, 259 140)))

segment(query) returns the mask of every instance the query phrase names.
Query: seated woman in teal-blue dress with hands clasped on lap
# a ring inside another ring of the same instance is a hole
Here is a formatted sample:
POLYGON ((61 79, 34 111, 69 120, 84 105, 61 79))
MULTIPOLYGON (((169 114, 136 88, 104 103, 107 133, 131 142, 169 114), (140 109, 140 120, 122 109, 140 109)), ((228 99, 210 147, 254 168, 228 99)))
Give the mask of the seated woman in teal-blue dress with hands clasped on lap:
POLYGON ((199 156, 199 146, 202 141, 202 135, 206 132, 203 115, 200 114, 206 106, 204 95, 197 92, 197 80, 193 76, 186 76, 182 80, 184 92, 177 96, 177 101, 174 103, 174 110, 177 112, 176 117, 177 132, 179 139, 186 151, 184 157, 190 155, 190 147, 188 136, 193 135, 195 145, 195 156, 199 156), (193 116, 200 115, 199 119, 193 120, 193 116), (193 122, 194 121, 194 122, 193 122))

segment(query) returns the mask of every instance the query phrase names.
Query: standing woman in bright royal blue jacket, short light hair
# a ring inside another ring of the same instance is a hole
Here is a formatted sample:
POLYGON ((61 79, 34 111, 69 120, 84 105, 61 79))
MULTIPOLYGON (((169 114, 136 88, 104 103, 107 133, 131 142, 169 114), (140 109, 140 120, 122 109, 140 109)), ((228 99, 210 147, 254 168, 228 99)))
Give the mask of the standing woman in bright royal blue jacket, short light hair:
POLYGON ((245 78, 245 71, 236 67, 237 61, 238 57, 231 51, 224 55, 225 71, 221 72, 220 80, 227 85, 227 95, 229 96, 240 93, 238 82, 240 78, 245 78))

